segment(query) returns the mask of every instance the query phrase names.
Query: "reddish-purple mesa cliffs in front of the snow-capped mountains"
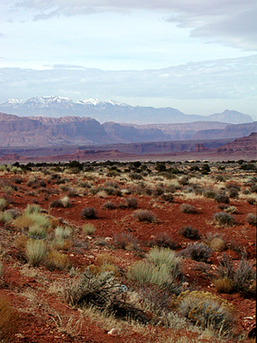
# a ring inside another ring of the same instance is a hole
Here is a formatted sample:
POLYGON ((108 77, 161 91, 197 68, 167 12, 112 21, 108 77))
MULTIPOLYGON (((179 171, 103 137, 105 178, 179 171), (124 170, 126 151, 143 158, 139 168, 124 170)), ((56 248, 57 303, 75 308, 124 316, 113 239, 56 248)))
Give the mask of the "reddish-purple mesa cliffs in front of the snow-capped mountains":
MULTIPOLYGON (((20 117, 0 113, 0 147, 46 147, 60 145, 106 145, 165 141, 203 141, 248 136, 257 122, 225 124, 100 124, 91 117, 20 117)), ((226 143, 226 142, 225 142, 226 143)))

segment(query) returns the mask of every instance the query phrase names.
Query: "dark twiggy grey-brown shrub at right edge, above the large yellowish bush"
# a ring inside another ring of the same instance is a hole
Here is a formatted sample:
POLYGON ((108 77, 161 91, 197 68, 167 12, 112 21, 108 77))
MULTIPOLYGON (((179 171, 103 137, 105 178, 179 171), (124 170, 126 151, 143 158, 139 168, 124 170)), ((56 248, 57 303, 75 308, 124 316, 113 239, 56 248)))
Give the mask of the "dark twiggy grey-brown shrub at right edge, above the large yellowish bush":
POLYGON ((219 262, 218 278, 227 278, 232 284, 232 290, 241 293, 254 293, 254 283, 256 282, 256 272, 253 265, 246 260, 246 253, 242 254, 242 259, 237 266, 234 266, 230 255, 223 254, 219 262))

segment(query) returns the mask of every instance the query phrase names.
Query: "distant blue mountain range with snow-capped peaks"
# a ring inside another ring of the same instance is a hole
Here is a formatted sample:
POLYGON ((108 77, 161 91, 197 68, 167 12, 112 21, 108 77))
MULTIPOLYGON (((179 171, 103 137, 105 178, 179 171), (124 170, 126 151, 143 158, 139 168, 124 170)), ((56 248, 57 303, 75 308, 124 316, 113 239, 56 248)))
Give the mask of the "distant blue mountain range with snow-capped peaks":
POLYGON ((73 101, 58 96, 36 96, 26 100, 9 99, 0 104, 0 112, 20 116, 36 117, 93 117, 98 122, 117 122, 126 124, 171 124, 190 122, 223 122, 242 124, 253 122, 251 116, 235 110, 225 110, 213 115, 186 115, 176 108, 153 108, 131 106, 116 101, 100 101, 90 98, 73 101))

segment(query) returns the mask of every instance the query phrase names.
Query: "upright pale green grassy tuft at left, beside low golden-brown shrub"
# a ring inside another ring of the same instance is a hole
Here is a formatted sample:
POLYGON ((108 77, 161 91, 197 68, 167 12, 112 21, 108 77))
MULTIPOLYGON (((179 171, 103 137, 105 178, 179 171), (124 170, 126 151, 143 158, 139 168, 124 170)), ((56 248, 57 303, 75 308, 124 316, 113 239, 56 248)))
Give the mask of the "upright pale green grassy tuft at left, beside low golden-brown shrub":
POLYGON ((46 257, 46 242, 44 240, 27 240, 25 248, 27 261, 31 266, 38 266, 46 257))

